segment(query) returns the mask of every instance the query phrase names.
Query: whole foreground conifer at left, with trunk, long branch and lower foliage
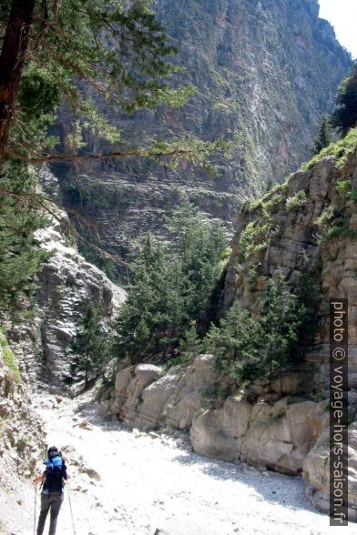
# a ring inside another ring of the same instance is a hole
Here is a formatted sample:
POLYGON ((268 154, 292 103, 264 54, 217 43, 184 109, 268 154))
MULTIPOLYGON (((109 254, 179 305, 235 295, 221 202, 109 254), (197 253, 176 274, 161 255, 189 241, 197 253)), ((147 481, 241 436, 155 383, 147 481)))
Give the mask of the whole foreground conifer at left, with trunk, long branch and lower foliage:
POLYGON ((176 48, 168 44, 147 0, 5 0, 0 3, 0 32, 4 302, 5 295, 26 290, 43 259, 33 236, 44 225, 40 214, 44 209, 51 212, 51 199, 38 193, 33 164, 138 156, 166 159, 175 166, 181 158, 203 163, 210 150, 222 144, 170 138, 152 140, 148 146, 138 141, 138 146, 128 148, 117 128, 97 110, 95 98, 106 103, 102 109, 131 113, 158 104, 180 106, 193 92, 192 87, 170 86, 177 70, 171 61, 176 48), (67 119, 67 136, 61 143, 54 127, 49 134, 59 105, 67 119), (89 154, 88 132, 104 140, 107 151, 89 154), (26 235, 31 255, 29 249, 21 249, 17 231, 26 235), (26 255, 28 262, 23 261, 26 255))

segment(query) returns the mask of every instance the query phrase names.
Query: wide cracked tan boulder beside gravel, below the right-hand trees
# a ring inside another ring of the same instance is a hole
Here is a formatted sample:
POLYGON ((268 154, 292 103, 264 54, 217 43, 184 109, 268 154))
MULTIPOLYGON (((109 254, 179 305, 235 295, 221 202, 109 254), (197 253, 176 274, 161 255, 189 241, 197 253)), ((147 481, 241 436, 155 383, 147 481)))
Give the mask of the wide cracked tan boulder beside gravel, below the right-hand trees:
POLYGON ((202 455, 296 475, 320 435, 321 413, 313 401, 289 405, 284 398, 273 405, 262 400, 251 405, 228 398, 222 409, 195 415, 190 439, 202 455))

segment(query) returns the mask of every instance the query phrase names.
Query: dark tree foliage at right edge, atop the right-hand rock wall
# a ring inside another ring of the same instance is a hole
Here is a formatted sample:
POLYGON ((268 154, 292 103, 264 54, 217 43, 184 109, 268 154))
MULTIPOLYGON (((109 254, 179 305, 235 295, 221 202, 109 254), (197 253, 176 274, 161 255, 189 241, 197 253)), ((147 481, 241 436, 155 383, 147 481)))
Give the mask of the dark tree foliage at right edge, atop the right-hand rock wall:
POLYGON ((342 82, 336 104, 331 124, 345 136, 357 126, 357 66, 354 66, 352 76, 342 82))

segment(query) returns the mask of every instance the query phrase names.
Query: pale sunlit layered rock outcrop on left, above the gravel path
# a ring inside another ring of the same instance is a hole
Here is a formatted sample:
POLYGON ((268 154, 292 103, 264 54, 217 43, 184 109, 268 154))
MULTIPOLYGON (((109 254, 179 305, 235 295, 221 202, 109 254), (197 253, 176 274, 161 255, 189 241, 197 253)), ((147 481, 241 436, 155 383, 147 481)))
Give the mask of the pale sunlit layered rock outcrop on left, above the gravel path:
POLYGON ((28 379, 58 391, 69 372, 70 344, 87 303, 97 308, 107 326, 126 298, 123 289, 68 245, 66 227, 66 215, 58 212, 50 227, 37 231, 36 239, 51 257, 37 276, 35 317, 9 332, 28 379))

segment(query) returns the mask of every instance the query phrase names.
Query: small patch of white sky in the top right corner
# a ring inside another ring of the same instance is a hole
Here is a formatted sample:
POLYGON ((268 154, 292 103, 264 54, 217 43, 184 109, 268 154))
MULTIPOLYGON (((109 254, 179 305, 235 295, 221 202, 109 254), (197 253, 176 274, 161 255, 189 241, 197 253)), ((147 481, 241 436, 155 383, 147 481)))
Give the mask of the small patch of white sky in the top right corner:
POLYGON ((320 18, 327 19, 345 48, 357 58, 357 0, 319 0, 320 18))

